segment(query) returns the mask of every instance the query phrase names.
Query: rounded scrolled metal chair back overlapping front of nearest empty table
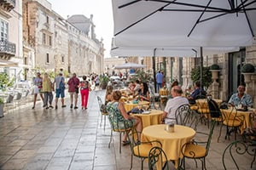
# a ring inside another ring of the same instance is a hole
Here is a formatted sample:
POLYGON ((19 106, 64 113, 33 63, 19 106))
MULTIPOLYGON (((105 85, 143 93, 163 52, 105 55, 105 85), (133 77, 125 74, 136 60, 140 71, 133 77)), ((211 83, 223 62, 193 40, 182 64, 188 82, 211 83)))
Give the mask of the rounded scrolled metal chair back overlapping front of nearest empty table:
POLYGON ((157 164, 160 164, 161 169, 169 170, 168 159, 164 150, 158 146, 154 146, 148 153, 148 170, 155 169, 157 164))

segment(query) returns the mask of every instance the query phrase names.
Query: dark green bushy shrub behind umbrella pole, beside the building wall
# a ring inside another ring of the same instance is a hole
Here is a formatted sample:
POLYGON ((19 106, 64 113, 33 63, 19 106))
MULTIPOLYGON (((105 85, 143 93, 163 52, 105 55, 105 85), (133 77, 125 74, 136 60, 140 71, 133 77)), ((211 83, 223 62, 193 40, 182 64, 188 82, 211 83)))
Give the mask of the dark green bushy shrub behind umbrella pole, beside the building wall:
MULTIPOLYGON (((202 77, 202 86, 208 88, 212 84, 212 73, 210 71, 210 67, 203 67, 203 77, 202 77)), ((200 67, 195 67, 191 71, 191 80, 193 82, 200 81, 200 67)))

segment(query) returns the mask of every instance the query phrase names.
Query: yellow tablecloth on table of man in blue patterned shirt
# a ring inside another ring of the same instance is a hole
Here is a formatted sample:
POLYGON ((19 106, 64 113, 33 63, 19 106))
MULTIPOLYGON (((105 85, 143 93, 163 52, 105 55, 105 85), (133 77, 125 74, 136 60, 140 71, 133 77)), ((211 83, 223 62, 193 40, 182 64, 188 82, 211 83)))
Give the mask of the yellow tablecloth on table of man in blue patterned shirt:
MULTIPOLYGON (((230 112, 232 109, 227 109, 227 110, 221 110, 222 114, 225 114, 226 116, 229 116, 230 112)), ((233 112, 235 114, 235 112, 233 112)), ((251 114, 253 111, 237 111, 236 115, 237 116, 244 116, 244 122, 242 123, 242 126, 240 127, 240 132, 243 133, 245 129, 252 127, 252 120, 251 120, 251 114)))

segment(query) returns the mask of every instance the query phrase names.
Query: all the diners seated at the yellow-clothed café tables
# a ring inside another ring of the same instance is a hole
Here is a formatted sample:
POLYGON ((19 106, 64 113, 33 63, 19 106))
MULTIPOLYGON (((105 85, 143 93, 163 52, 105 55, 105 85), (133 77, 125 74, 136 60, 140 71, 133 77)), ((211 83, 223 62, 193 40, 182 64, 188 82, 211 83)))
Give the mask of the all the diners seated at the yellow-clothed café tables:
MULTIPOLYGON (((160 85, 159 85, 160 86, 160 85)), ((133 97, 139 96, 137 99, 145 99, 149 101, 149 92, 148 92, 148 85, 146 82, 140 82, 137 80, 136 82, 129 83, 129 90, 133 97)), ((176 123, 176 111, 177 108, 181 105, 189 105, 189 100, 197 99, 199 95, 206 95, 203 88, 201 88, 200 82, 195 82, 194 90, 189 89, 189 96, 182 96, 183 90, 179 86, 177 81, 172 83, 171 87, 171 99, 168 99, 164 113, 162 116, 162 123, 170 124, 176 123)), ((205 96, 206 97, 206 96, 205 96)), ((137 129, 137 133, 142 132, 142 121, 137 116, 130 116, 127 114, 129 111, 125 111, 125 107, 122 102, 119 101, 121 98, 121 93, 119 90, 113 90, 113 87, 108 86, 107 93, 105 97, 107 110, 110 113, 110 116, 113 116, 113 120, 119 120, 116 124, 117 127, 123 127, 124 123, 128 124, 131 127, 135 127, 137 129), (114 114, 111 114, 114 113, 114 114), (115 117, 114 117, 115 116, 115 117), (130 124, 129 124, 130 123, 130 124)), ((243 105, 247 107, 253 107, 253 101, 249 94, 245 94, 245 86, 240 85, 237 88, 237 93, 233 94, 229 99, 229 105, 237 107, 238 105, 243 105)), ((254 113, 256 116, 256 113, 254 113)), ((256 119, 255 119, 256 120, 256 119)), ((124 127, 123 127, 124 128, 124 127)), ((256 121, 253 122, 253 127, 248 129, 250 134, 256 133, 256 121)), ((139 139, 140 140, 140 137, 139 139)), ((139 142, 139 141, 138 141, 139 142)), ((126 140, 126 135, 123 137, 123 145, 129 144, 126 140)))

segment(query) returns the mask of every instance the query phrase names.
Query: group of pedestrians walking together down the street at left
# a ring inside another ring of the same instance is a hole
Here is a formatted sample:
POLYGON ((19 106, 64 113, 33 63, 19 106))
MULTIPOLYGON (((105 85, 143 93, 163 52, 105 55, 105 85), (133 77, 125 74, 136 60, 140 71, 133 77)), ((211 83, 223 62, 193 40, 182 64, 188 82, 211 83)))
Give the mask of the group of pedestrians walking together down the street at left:
POLYGON ((54 108, 53 99, 55 92, 55 110, 58 109, 58 101, 61 98, 61 107, 64 108, 65 105, 65 88, 68 86, 68 93, 70 95, 70 109, 79 109, 78 99, 79 94, 81 95, 81 109, 87 110, 89 93, 91 90, 91 83, 94 84, 94 90, 99 87, 99 76, 96 74, 90 75, 91 79, 83 76, 80 81, 76 73, 73 73, 73 76, 70 77, 67 82, 63 77, 62 71, 54 78, 54 81, 51 81, 47 72, 44 73, 44 77, 41 77, 41 73, 37 72, 37 77, 33 78, 33 88, 32 94, 33 106, 32 109, 35 109, 38 94, 41 97, 45 109, 54 108))

